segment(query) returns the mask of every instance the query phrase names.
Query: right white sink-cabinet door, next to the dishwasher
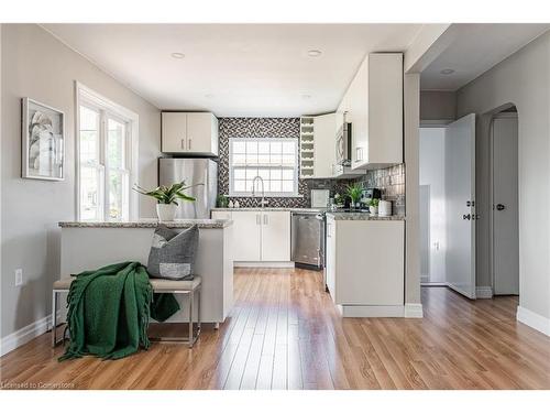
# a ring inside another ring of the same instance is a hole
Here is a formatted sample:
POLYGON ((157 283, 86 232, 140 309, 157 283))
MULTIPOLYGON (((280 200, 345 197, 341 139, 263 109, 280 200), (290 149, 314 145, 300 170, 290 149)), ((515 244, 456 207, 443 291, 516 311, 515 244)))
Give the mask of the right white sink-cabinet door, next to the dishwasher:
POLYGON ((290 213, 262 213, 262 261, 290 261, 290 213))

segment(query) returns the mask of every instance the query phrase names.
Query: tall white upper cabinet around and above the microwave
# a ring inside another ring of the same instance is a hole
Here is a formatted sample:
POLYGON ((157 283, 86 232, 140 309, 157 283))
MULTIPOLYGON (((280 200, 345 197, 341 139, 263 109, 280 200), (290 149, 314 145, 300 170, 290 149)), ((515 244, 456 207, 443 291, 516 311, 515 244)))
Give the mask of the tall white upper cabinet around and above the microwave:
POLYGON ((403 54, 372 53, 337 110, 337 127, 352 122, 351 167, 403 163, 403 54))

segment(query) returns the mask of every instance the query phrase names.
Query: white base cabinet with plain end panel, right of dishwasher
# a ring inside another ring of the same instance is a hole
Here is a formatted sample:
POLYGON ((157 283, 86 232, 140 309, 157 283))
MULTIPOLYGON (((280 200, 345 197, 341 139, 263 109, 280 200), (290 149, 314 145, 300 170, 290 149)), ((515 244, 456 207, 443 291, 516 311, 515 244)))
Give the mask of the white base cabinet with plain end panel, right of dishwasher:
POLYGON ((327 286, 344 316, 404 315, 403 220, 327 218, 327 286))

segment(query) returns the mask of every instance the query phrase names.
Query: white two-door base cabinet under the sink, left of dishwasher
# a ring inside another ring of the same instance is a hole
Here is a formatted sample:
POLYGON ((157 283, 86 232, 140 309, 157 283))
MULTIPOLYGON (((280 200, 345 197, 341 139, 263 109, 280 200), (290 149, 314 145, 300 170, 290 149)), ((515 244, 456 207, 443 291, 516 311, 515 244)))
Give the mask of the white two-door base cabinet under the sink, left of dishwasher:
POLYGON ((213 210, 212 219, 233 220, 233 261, 290 262, 290 213, 213 210))

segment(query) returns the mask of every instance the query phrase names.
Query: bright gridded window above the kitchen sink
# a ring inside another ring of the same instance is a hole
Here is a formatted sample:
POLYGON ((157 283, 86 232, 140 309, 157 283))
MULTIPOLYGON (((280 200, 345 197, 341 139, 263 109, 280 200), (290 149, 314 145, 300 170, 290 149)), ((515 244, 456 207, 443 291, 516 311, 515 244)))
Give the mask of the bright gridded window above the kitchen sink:
MULTIPOLYGON (((266 196, 298 195, 297 139, 229 140, 229 194, 251 196, 252 182, 262 177, 266 196)), ((256 183, 256 189, 262 185, 256 183)))

